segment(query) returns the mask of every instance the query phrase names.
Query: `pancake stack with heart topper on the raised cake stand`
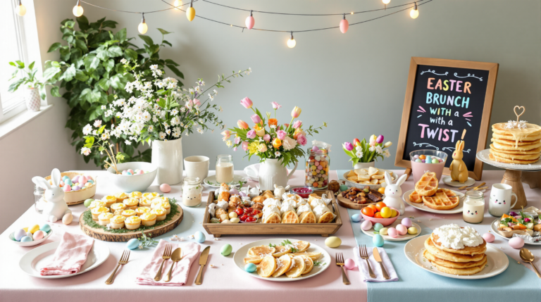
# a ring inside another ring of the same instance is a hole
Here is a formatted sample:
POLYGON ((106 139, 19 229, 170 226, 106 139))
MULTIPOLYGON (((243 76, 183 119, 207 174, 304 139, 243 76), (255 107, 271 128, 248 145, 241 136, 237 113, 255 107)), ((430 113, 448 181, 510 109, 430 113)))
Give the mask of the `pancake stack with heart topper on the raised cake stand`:
POLYGON ((492 125, 490 159, 500 163, 527 165, 541 156, 541 127, 527 122, 499 122, 492 125))

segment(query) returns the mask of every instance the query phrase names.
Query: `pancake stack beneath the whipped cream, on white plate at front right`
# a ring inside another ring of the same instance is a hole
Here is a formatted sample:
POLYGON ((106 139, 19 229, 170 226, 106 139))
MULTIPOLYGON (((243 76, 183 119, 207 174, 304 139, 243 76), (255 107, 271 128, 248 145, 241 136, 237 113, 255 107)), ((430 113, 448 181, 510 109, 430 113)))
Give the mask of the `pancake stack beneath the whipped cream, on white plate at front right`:
POLYGON ((423 257, 432 263, 437 270, 451 275, 473 275, 477 274, 487 264, 487 242, 478 246, 465 246, 456 250, 446 248, 437 241, 437 234, 430 234, 425 241, 423 257))

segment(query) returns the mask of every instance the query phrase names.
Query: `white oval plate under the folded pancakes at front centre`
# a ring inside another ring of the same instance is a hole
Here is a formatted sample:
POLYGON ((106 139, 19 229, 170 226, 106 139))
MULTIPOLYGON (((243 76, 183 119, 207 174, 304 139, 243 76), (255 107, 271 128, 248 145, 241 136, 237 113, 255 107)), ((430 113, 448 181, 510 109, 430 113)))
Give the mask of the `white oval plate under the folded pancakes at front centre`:
POLYGON ((262 246, 262 245, 268 246, 268 244, 275 244, 275 245, 278 246, 284 240, 289 240, 291 242, 299 241, 297 239, 284 239, 284 238, 282 238, 282 239, 280 239, 280 238, 278 238, 278 239, 264 239, 264 240, 254 241, 254 242, 251 242, 250 244, 243 245, 242 248, 239 248, 235 252, 235 256, 233 256, 233 261, 235 261, 235 265, 237 265, 237 267, 240 270, 242 270, 245 274, 250 275, 251 277, 256 277, 258 279, 263 279, 263 280, 267 280, 267 281, 274 281, 274 282, 291 282, 291 281, 299 281, 299 280, 308 279, 308 278, 311 278, 313 276, 321 274, 321 272, 326 270, 331 265, 332 259, 330 258, 329 253, 327 253, 327 251, 325 251, 325 249, 321 248, 320 246, 316 246, 316 244, 312 244, 310 242, 310 247, 308 248, 307 251, 321 253, 321 256, 319 257, 319 259, 317 261, 320 261, 322 263, 322 265, 314 266, 313 269, 311 270, 311 272, 309 272, 306 275, 302 275, 302 277, 288 278, 284 274, 284 275, 282 275, 280 277, 276 277, 276 278, 274 278, 274 277, 265 278, 265 277, 261 277, 261 276, 257 275, 257 271, 256 272, 247 272, 246 270, 244 270, 244 265, 245 265, 244 264, 244 257, 246 257, 246 255, 248 253, 248 250, 250 248, 252 248, 254 246, 262 246))

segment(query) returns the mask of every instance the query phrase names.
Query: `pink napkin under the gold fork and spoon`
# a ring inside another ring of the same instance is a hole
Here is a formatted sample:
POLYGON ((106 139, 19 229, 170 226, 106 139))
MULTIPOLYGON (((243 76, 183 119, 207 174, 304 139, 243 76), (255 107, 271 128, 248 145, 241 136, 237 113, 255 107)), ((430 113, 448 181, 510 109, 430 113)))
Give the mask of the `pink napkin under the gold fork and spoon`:
POLYGON ((145 265, 141 275, 135 279, 135 283, 139 285, 162 285, 164 287, 180 287, 184 285, 188 279, 189 268, 197 259, 200 248, 201 246, 199 246, 199 244, 194 244, 193 242, 188 242, 186 244, 172 244, 169 241, 161 239, 158 246, 156 246, 156 249, 154 250, 150 263, 145 265), (163 256, 163 250, 166 249, 166 244, 171 244, 173 246, 171 252, 175 251, 176 248, 181 248, 182 259, 178 263, 175 263, 173 272, 171 272, 171 280, 169 282, 165 282, 165 279, 167 273, 169 272, 169 268, 173 264, 173 261, 170 259, 163 263, 161 280, 154 281, 156 272, 158 272, 160 269, 161 261, 163 261, 161 256, 163 256))

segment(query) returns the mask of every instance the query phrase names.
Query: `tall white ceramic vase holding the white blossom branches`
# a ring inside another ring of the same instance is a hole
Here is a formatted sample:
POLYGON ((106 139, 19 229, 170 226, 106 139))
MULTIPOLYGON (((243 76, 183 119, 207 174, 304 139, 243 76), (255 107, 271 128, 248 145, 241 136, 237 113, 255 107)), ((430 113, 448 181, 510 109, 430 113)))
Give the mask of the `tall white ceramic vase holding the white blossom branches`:
POLYGON ((182 182, 182 137, 170 141, 152 141, 151 163, 158 166, 158 184, 182 182))

